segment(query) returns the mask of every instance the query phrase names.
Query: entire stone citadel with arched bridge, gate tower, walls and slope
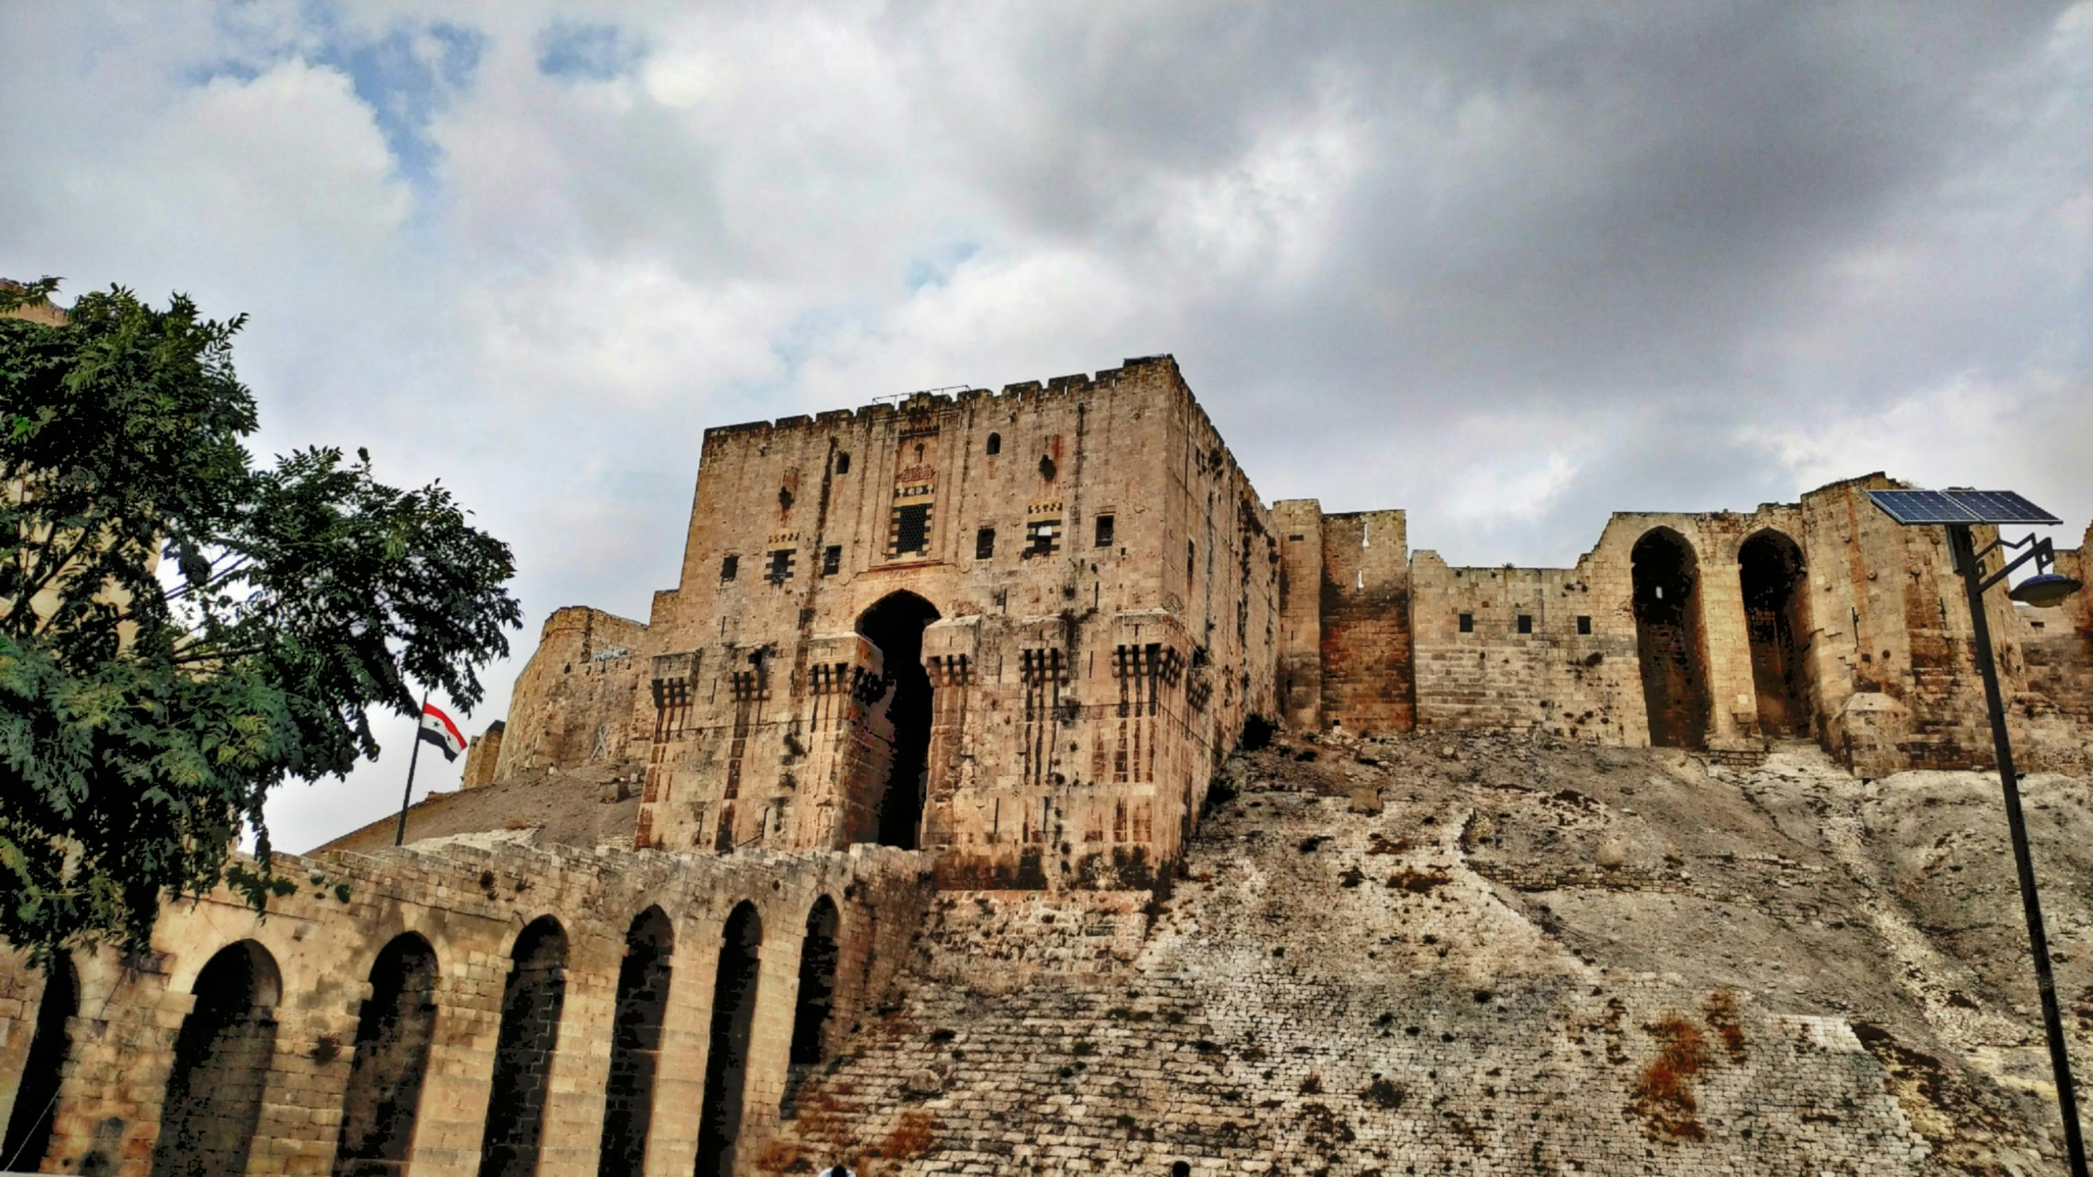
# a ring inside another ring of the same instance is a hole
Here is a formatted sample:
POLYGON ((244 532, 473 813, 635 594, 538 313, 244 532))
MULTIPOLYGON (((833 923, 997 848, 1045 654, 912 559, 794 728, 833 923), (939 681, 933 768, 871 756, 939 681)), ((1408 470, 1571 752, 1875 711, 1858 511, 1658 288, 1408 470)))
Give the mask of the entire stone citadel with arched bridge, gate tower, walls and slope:
MULTIPOLYGON (((1888 485, 1450 567, 1402 510, 1266 506, 1170 357, 712 429, 678 585, 557 610, 454 803, 636 792, 630 836, 339 847, 268 918, 0 960, 0 1169, 2013 1171, 2024 1087, 1898 1079, 1940 1066, 1907 1039, 2011 1060, 2011 980, 1846 1018, 1563 899, 1750 907, 1808 972, 1787 876, 1877 870, 1823 815, 1988 767, 1946 548, 1888 485), (1666 797, 1708 830, 1653 832, 1666 797)), ((1988 608, 2018 746, 2085 774, 2093 604, 1988 608)), ((1869 934, 1942 972, 1900 918, 1869 934)))

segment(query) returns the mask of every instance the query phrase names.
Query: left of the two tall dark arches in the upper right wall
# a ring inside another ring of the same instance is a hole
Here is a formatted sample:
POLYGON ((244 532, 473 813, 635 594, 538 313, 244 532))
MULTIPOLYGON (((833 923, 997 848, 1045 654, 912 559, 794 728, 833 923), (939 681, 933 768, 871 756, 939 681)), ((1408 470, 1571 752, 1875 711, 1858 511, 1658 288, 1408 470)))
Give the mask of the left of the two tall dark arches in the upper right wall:
POLYGON ((1700 560, 1683 535, 1658 527, 1635 541, 1635 650, 1643 667, 1649 742, 1708 746, 1708 640, 1702 633, 1700 560))

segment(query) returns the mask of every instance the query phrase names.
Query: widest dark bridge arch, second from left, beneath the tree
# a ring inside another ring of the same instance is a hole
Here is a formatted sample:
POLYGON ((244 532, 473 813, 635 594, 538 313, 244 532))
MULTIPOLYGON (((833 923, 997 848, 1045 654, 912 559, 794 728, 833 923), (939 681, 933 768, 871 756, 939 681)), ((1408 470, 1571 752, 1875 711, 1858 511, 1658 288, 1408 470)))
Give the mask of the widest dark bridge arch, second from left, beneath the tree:
POLYGON ((253 941, 218 949, 197 974, 153 1141, 153 1177, 245 1173, 276 1054, 276 960, 253 941))

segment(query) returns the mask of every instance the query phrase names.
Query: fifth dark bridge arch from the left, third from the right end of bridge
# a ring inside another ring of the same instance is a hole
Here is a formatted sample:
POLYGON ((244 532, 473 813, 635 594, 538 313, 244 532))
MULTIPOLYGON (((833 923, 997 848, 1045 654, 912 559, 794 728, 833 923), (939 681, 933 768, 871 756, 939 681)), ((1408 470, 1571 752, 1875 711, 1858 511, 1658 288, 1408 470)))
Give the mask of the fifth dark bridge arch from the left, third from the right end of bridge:
POLYGON ((626 960, 617 966, 617 1014, 611 1022, 611 1083, 603 1108, 599 1177, 626 1177, 647 1164, 647 1129, 653 1127, 655 1060, 661 1054, 661 1018, 668 1012, 670 951, 676 930, 659 907, 632 920, 626 960))

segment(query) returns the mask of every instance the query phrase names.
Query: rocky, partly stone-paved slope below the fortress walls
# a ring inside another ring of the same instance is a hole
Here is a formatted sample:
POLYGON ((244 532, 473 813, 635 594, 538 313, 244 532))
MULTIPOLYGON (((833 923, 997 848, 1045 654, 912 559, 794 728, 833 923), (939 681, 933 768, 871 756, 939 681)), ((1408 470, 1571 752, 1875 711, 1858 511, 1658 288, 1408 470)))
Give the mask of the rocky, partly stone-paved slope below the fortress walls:
MULTIPOLYGON (((1224 782, 1145 934, 942 897, 764 1169, 2060 1169, 1995 782, 1482 734, 1224 782)), ((2085 1075, 2093 805, 2026 794, 2085 1075)))

